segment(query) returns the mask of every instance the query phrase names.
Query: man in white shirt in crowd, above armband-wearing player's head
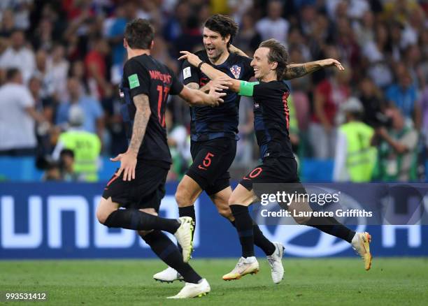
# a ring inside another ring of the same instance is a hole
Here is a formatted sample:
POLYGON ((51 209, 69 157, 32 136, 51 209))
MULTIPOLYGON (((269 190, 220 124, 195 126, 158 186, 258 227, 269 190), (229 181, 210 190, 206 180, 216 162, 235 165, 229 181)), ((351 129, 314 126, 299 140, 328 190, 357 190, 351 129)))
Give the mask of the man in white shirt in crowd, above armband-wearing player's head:
POLYGON ((262 40, 275 38, 280 43, 287 45, 288 29, 290 24, 281 15, 283 14, 283 3, 278 0, 269 1, 267 17, 257 22, 256 29, 262 36, 262 40))

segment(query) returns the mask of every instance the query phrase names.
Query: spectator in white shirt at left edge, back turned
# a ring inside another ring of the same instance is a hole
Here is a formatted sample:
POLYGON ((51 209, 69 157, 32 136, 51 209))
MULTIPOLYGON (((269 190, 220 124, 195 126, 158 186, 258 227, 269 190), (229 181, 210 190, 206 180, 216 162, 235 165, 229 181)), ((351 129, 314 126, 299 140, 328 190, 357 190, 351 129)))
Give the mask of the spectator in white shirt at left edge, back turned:
POLYGON ((0 87, 0 155, 25 156, 36 153, 35 122, 44 122, 34 108, 31 93, 22 85, 22 73, 10 68, 0 87))

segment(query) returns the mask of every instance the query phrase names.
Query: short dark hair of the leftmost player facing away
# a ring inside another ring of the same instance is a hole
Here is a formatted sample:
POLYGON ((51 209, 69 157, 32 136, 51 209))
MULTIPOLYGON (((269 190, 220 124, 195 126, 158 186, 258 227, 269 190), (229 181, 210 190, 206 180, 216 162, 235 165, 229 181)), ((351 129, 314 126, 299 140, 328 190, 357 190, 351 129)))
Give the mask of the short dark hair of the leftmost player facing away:
POLYGON ((131 49, 150 49, 155 29, 146 19, 137 18, 127 23, 124 38, 131 49))

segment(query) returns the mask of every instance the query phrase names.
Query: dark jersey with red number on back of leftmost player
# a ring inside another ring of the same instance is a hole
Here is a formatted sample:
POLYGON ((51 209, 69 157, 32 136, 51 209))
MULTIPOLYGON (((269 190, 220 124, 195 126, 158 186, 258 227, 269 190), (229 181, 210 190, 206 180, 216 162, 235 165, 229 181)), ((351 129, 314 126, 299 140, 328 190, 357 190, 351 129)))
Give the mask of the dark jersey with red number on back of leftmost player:
POLYGON ((150 55, 132 57, 124 64, 120 96, 122 97, 121 110, 128 143, 131 140, 136 112, 134 96, 147 95, 152 112, 138 152, 138 159, 159 161, 169 167, 166 164, 171 163, 171 153, 166 143, 166 101, 169 94, 180 94, 182 90, 183 84, 171 69, 150 55))

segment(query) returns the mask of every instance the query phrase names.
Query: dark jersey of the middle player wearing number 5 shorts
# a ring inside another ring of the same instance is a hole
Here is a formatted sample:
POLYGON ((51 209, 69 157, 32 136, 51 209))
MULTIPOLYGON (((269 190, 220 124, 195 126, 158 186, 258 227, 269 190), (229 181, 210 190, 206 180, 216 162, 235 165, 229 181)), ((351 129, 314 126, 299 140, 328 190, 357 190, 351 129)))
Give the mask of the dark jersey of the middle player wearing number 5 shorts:
MULTIPOLYGON (((211 64, 205 50, 195 54, 206 63, 211 64)), ((231 78, 248 81, 254 76, 250 62, 251 59, 248 57, 229 54, 223 64, 218 66, 211 64, 211 66, 226 73, 231 78)), ((183 63, 183 80, 186 85, 194 82, 199 84, 199 87, 203 87, 210 81, 204 73, 190 65, 188 61, 183 63)), ((210 106, 190 108, 190 133, 193 141, 205 141, 220 137, 238 140, 238 110, 241 96, 230 90, 227 90, 226 93, 227 95, 222 98, 224 103, 216 108, 210 106)))

